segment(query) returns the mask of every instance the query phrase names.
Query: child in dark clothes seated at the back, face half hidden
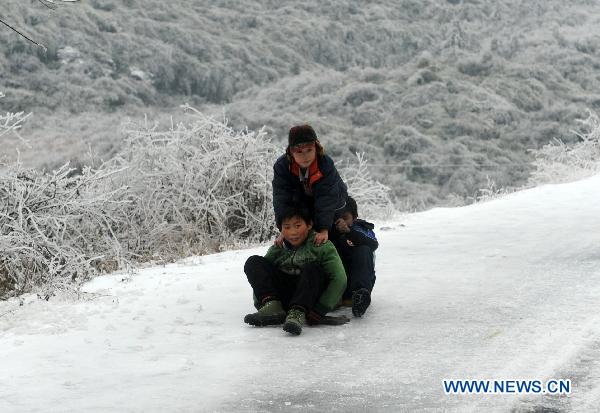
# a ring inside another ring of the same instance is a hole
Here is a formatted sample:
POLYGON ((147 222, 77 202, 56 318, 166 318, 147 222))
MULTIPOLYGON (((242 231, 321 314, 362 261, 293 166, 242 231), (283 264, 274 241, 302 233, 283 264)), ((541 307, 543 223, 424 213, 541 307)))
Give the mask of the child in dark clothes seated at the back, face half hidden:
POLYGON ((371 304, 375 285, 375 250, 379 246, 374 225, 358 219, 356 201, 348 196, 342 217, 335 222, 332 241, 346 269, 348 285, 344 303, 352 300, 352 314, 362 317, 371 304))

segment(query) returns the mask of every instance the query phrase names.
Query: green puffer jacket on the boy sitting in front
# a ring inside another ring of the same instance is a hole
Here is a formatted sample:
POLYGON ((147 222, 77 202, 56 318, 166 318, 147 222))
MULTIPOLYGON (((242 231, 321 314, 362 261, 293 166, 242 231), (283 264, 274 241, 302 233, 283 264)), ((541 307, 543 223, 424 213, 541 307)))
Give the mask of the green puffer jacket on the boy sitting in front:
POLYGON ((319 264, 329 278, 329 284, 321 294, 314 310, 324 315, 333 310, 340 301, 346 289, 346 271, 331 241, 317 247, 314 240, 315 232, 311 231, 304 244, 298 249, 291 249, 286 244, 283 248, 273 245, 267 251, 265 258, 286 274, 300 274, 306 264, 319 264))

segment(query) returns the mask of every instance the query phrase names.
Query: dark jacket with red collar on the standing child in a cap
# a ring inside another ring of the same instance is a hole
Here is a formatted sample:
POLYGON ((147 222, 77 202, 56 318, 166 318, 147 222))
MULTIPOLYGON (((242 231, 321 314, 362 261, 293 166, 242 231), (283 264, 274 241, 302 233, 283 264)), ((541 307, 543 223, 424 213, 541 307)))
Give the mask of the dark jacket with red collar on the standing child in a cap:
POLYGON ((317 156, 309 167, 307 186, 300 180, 300 167, 287 155, 273 166, 273 208, 277 227, 281 230, 281 215, 294 203, 306 205, 313 213, 316 231, 330 229, 334 216, 346 205, 347 188, 327 155, 317 156))

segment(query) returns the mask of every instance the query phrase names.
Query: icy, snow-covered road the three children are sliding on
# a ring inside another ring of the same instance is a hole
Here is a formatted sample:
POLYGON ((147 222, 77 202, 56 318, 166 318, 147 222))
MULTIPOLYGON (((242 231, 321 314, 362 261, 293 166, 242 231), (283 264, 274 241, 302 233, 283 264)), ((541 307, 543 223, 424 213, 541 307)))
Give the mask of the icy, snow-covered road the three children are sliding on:
POLYGON ((100 277, 78 301, 2 302, 0 411, 594 411, 598 188, 600 175, 380 224, 366 316, 299 337, 242 322, 243 263, 266 246, 100 277), (442 386, 548 378, 571 395, 442 386))

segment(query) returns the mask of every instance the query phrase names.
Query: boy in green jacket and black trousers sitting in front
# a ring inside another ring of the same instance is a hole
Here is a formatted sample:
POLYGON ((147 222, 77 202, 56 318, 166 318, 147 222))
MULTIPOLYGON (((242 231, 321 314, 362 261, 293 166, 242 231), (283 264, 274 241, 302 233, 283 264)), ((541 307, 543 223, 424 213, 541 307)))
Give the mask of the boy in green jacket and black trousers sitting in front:
POLYGON ((280 220, 283 246, 273 245, 264 257, 253 255, 244 265, 258 309, 246 315, 244 322, 253 326, 283 323, 285 331, 296 335, 306 322, 347 322, 347 318, 324 317, 346 288, 346 273, 334 245, 331 241, 314 245, 315 231, 305 208, 288 208, 280 220))

